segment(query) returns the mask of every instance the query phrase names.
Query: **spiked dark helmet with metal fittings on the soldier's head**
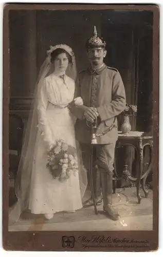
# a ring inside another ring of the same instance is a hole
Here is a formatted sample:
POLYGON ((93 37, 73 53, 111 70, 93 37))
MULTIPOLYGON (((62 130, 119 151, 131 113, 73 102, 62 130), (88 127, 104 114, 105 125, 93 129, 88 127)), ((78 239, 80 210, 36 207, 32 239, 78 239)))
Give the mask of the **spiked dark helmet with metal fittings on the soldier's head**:
POLYGON ((96 30, 96 26, 94 26, 94 33, 93 36, 87 40, 86 42, 86 48, 87 49, 91 49, 91 48, 104 48, 106 46, 105 41, 103 41, 102 38, 99 38, 97 36, 97 30, 96 30))

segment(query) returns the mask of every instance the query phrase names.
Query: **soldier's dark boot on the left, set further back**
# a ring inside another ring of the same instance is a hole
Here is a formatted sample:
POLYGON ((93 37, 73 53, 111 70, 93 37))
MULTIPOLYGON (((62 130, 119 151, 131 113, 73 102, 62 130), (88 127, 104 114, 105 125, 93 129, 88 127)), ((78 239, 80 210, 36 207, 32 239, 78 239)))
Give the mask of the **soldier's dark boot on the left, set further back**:
MULTIPOLYGON (((94 194, 95 194, 96 205, 101 205, 102 204, 101 176, 97 167, 93 169, 93 183, 94 183, 94 194)), ((86 200, 83 204, 83 207, 89 207, 89 206, 94 206, 92 197, 86 200)))

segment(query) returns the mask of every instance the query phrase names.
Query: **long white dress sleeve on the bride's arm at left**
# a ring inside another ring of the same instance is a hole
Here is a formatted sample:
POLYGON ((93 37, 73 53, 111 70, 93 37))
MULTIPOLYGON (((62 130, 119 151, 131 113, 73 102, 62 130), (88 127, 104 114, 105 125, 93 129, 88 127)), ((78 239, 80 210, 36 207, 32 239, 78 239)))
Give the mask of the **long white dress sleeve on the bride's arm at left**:
POLYGON ((40 85, 40 91, 38 95, 38 122, 44 141, 50 143, 50 130, 48 129, 48 121, 46 116, 47 105, 48 97, 46 81, 43 80, 42 84, 40 85))

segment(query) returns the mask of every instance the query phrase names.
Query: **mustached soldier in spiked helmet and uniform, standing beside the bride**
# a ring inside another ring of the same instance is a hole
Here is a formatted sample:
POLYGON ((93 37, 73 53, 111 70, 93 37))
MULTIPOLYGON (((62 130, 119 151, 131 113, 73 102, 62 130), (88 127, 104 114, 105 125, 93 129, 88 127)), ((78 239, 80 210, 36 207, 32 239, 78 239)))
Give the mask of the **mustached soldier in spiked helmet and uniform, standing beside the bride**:
MULTIPOLYGON (((75 94, 76 97, 80 96, 83 99, 83 105, 75 106, 71 111, 77 117, 76 138, 80 142, 86 167, 84 156, 88 156, 92 140, 90 124, 97 121, 97 134, 102 135, 97 137, 97 144, 94 147, 98 167, 95 169, 94 165, 93 170, 96 204, 101 204, 103 198, 103 211, 111 219, 117 220, 119 214, 112 207, 113 164, 118 138, 116 116, 124 110, 126 100, 118 70, 103 63, 106 56, 105 45, 106 43, 97 36, 94 27, 92 38, 86 42, 90 66, 80 72, 75 94)), ((92 198, 86 205, 93 205, 92 198)))

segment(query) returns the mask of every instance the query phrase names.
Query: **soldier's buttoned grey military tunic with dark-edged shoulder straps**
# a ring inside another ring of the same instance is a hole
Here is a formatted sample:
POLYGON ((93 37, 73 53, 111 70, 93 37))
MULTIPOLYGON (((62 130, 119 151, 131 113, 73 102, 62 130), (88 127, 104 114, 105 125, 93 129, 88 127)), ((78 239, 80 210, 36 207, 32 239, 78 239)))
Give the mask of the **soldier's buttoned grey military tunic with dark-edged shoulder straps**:
MULTIPOLYGON (((85 106, 96 107, 100 124, 97 134, 108 130, 114 123, 114 128, 103 136, 97 137, 98 144, 114 143, 118 137, 117 118, 125 108, 125 89, 117 69, 105 64, 99 69, 88 69, 80 72, 75 96, 83 99, 85 106)), ((90 143, 92 133, 90 123, 83 119, 83 106, 76 106, 73 113, 78 118, 75 124, 76 138, 81 143, 90 143)))

